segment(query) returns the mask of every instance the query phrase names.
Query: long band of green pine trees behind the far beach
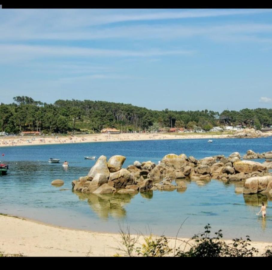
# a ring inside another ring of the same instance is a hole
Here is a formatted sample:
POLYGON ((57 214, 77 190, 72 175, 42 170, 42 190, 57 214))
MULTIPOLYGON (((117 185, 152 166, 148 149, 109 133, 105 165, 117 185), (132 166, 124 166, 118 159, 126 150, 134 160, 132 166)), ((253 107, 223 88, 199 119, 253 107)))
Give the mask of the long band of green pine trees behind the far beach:
POLYGON ((201 128, 242 125, 261 129, 272 125, 272 109, 173 111, 149 110, 132 104, 91 100, 57 100, 54 104, 34 101, 27 96, 13 98, 12 104, 0 105, 0 129, 10 134, 21 131, 67 133, 100 132, 102 128, 124 131, 169 128, 201 128))

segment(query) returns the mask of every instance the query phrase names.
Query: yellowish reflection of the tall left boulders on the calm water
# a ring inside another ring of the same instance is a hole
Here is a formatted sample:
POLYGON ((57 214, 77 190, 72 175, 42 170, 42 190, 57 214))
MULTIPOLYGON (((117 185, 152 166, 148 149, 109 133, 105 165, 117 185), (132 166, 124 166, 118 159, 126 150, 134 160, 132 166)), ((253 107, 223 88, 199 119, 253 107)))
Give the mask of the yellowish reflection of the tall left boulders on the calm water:
POLYGON ((90 208, 104 220, 108 220, 109 216, 114 218, 126 217, 126 209, 124 205, 128 204, 137 193, 129 194, 84 194, 73 191, 80 200, 87 200, 90 208))

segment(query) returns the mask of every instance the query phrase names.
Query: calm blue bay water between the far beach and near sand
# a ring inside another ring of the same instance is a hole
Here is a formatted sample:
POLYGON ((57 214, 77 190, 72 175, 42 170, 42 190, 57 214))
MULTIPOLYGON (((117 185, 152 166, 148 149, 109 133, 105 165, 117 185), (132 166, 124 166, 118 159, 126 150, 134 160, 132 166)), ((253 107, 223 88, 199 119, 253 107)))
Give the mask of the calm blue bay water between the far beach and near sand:
MULTIPOLYGON (((155 234, 188 237, 203 231, 210 223, 212 231, 223 229, 224 238, 245 237, 272 241, 271 198, 254 194, 235 194, 241 183, 224 184, 211 180, 205 186, 187 182, 187 190, 153 191, 136 195, 84 195, 72 192, 71 182, 87 175, 95 161, 86 155, 124 155, 123 167, 151 160, 158 163, 169 153, 193 155, 200 159, 232 152, 244 155, 272 150, 271 137, 258 139, 158 140, 135 142, 77 143, 42 146, 1 147, 1 161, 9 164, 7 176, 0 177, 0 212, 40 220, 46 223, 93 231, 118 232, 119 225, 130 226, 143 233, 149 228, 155 234), (49 164, 48 158, 67 160, 69 168, 49 164), (54 187, 54 179, 64 185, 54 187), (265 221, 256 216, 260 203, 267 202, 265 221)), ((264 159, 255 160, 263 162, 264 159)))

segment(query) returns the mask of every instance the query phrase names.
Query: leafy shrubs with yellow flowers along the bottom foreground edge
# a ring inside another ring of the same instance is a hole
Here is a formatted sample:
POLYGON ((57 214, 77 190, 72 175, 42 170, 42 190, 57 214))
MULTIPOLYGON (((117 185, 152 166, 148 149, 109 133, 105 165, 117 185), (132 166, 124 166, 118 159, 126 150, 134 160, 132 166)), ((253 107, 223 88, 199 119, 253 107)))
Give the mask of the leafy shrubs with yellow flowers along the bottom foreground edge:
MULTIPOLYGON (((119 225, 120 226, 120 225, 119 225)), ((120 227, 121 228, 121 227, 120 227)), ((211 237, 211 226, 206 225, 205 232, 194 235, 188 241, 175 238, 176 241, 182 241, 181 245, 176 248, 169 246, 169 239, 164 235, 155 237, 151 233, 149 236, 144 236, 144 242, 139 243, 139 235, 132 236, 129 232, 121 229, 122 244, 125 248, 119 248, 126 256, 144 256, 144 257, 252 257, 257 256, 259 251, 254 247, 250 247, 250 238, 247 236, 246 240, 242 238, 234 238, 232 242, 227 244, 222 240, 222 230, 215 232, 215 236, 211 237), (188 248, 189 247, 189 250, 188 248)), ((173 239, 173 238, 171 238, 173 239)), ((120 256, 118 253, 116 256, 120 256)), ((266 247, 265 253, 262 256, 271 257, 272 247, 266 247)))

